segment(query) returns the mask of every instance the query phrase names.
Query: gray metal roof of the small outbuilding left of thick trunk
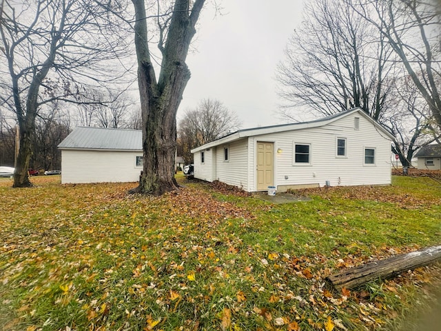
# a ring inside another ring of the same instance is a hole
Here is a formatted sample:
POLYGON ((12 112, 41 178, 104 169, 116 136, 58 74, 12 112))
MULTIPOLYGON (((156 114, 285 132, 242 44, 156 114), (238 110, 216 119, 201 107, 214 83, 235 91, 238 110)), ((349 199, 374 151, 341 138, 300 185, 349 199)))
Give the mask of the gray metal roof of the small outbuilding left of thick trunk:
POLYGON ((60 149, 143 150, 141 130, 75 128, 59 144, 60 149))

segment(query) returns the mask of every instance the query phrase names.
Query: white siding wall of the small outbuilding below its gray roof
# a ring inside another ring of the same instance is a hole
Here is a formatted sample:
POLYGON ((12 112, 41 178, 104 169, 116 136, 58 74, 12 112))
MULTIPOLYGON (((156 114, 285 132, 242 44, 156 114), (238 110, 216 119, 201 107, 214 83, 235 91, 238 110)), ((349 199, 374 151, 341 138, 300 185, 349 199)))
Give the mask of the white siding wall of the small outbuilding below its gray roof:
POLYGON ((61 150, 61 183, 139 181, 142 151, 61 150))

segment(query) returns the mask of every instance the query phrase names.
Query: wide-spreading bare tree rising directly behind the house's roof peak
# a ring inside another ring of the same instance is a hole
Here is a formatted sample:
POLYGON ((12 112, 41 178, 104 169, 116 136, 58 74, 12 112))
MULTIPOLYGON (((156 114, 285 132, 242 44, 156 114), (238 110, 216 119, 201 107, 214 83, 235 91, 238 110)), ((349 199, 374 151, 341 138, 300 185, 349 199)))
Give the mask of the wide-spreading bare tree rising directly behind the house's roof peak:
MULTIPOLYGON (((285 54, 277 79, 288 107, 325 115, 360 107, 380 119, 390 89, 391 50, 350 6, 309 1, 285 54)), ((289 115, 286 108, 283 114, 289 115)))

